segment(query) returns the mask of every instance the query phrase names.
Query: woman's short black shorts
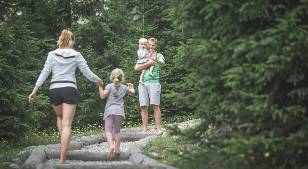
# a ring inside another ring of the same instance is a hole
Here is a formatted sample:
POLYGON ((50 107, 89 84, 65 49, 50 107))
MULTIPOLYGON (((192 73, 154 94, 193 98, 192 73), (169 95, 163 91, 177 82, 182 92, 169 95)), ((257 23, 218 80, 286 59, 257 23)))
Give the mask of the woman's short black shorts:
POLYGON ((73 87, 50 89, 49 100, 52 105, 61 105, 62 103, 78 105, 78 91, 73 87))

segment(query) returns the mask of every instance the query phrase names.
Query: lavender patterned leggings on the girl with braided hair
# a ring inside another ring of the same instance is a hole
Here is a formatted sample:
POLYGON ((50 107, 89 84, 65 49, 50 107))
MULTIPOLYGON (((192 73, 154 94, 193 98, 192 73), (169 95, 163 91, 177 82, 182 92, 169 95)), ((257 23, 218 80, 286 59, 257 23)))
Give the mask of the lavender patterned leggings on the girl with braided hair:
POLYGON ((105 119, 106 136, 112 135, 112 126, 114 125, 114 136, 121 136, 120 129, 122 126, 123 116, 109 115, 105 119))

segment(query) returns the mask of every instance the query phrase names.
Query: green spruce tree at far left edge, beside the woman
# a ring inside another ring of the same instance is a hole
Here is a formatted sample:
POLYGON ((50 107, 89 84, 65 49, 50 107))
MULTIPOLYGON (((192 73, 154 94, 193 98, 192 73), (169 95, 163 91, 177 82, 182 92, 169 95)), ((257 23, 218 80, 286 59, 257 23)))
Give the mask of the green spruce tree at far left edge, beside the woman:
POLYGON ((32 70, 42 55, 39 49, 46 42, 31 37, 27 27, 20 22, 0 25, 0 135, 4 138, 39 126, 46 116, 37 111, 48 105, 46 96, 38 95, 34 105, 27 103, 32 90, 30 81, 37 75, 32 70))

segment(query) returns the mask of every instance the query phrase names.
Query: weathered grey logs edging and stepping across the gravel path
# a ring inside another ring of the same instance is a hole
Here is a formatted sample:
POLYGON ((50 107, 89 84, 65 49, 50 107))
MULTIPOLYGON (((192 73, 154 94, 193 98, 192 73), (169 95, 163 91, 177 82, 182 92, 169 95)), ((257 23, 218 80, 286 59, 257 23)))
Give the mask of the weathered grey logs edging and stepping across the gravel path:
MULTIPOLYGON (((191 124, 191 123, 195 123, 195 122, 199 122, 200 120, 190 120, 187 122, 181 122, 181 123, 175 123, 175 124, 170 124, 170 125, 162 125, 162 126, 174 126, 174 125, 182 125, 182 124, 191 124)), ((155 129, 156 126, 148 126, 149 130, 155 129)), ((143 165, 145 164, 146 166, 151 165, 152 167, 165 167, 168 169, 176 169, 173 166, 168 166, 165 164, 161 164, 158 163, 156 160, 151 159, 145 155, 142 155, 141 150, 142 148, 144 148, 145 146, 147 146, 149 144, 149 142, 151 142, 154 138, 156 138, 157 136, 161 135, 162 133, 158 133, 158 132, 146 132, 146 133, 142 133, 140 131, 143 130, 143 127, 138 127, 138 128, 133 128, 133 129, 122 129, 121 130, 121 141, 138 141, 136 143, 136 145, 132 145, 129 150, 128 153, 124 153, 123 155, 119 158, 123 158, 126 159, 128 158, 128 161, 134 163, 136 166, 139 165, 143 165), (136 132, 136 133, 134 133, 136 132), (139 159, 139 160, 138 160, 139 159)), ((163 134, 164 135, 164 134, 163 134)), ((81 150, 82 147, 84 146, 89 146, 95 143, 102 143, 106 141, 106 134, 102 133, 102 134, 96 134, 96 135, 91 135, 91 136, 83 136, 81 138, 77 138, 73 141, 70 142, 69 145, 69 149, 70 150, 81 150)), ((24 163, 24 167, 33 167, 35 169, 54 169, 55 167, 50 165, 50 164, 45 164, 44 162, 47 159, 55 158, 55 156, 57 156, 57 158, 59 158, 60 156, 60 144, 50 144, 50 145, 40 145, 34 148, 34 150, 32 151, 32 153, 30 154, 30 156, 28 157, 28 159, 26 159, 25 163, 24 163), (55 151, 54 151, 55 150, 55 151), (53 152, 53 155, 50 155, 50 152, 53 152), (55 153, 57 152, 57 153, 55 153), (49 153, 49 154, 48 154, 49 153), (59 155, 58 155, 59 153, 59 155), (47 157, 47 154, 49 156, 49 158, 47 157)), ((122 154, 122 153, 121 153, 122 154)), ((67 159, 75 159, 75 156, 80 156, 80 155, 76 155, 74 153, 71 153, 70 151, 67 152, 67 155, 71 156, 71 157, 67 157, 67 159)), ((106 157, 107 155, 102 154, 104 157, 106 157)), ((101 156, 101 157, 103 157, 101 156)), ((116 158, 116 156, 114 156, 116 158)), ((100 159, 102 160, 102 159, 100 159)), ((93 161, 93 159, 91 160, 93 161)), ((124 166, 128 166, 128 165, 124 165, 124 166)), ((57 166, 59 167, 59 166, 57 166)), ((93 166, 92 166, 93 167, 93 166)), ((149 167, 149 166, 148 166, 149 167)), ((65 168, 65 167, 64 167, 65 168)), ((151 167, 150 167, 151 168, 151 167)), ((86 169, 86 168, 83 168, 86 169)))

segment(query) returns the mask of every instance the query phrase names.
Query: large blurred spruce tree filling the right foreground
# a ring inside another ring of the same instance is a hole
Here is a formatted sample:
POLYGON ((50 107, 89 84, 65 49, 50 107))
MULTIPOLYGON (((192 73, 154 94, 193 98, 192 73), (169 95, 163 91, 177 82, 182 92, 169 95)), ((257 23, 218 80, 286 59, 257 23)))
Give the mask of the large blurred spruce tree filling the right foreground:
POLYGON ((205 119, 185 135, 215 150, 208 163, 308 167, 307 5, 183 0, 170 8, 175 31, 191 37, 176 66, 193 90, 177 95, 205 119))

